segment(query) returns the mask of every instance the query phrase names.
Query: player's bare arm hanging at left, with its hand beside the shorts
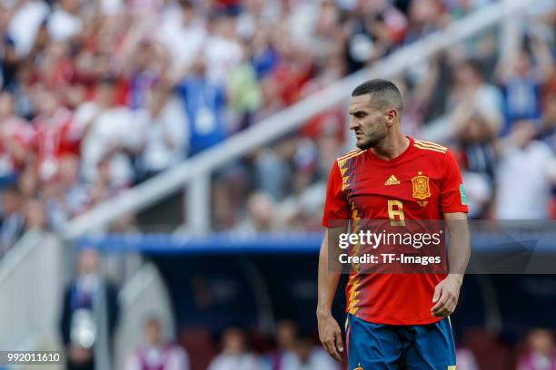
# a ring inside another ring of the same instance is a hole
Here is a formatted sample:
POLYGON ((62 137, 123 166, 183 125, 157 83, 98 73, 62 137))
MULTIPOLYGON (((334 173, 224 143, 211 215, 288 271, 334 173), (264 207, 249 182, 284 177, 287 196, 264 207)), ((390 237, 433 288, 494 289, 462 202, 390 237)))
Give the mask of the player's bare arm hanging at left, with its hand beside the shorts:
MULTIPOLYGON (((329 248, 329 240, 337 240, 340 233, 344 231, 344 229, 327 229, 319 254, 319 287, 316 310, 319 337, 326 352, 337 361, 342 361, 342 355, 340 355, 343 352, 342 330, 332 316, 332 303, 340 280, 341 266, 335 253, 339 251, 339 248, 334 248, 334 245, 329 248), (333 253, 329 253, 329 251, 333 253)), ((337 246, 337 242, 335 245, 337 246)))

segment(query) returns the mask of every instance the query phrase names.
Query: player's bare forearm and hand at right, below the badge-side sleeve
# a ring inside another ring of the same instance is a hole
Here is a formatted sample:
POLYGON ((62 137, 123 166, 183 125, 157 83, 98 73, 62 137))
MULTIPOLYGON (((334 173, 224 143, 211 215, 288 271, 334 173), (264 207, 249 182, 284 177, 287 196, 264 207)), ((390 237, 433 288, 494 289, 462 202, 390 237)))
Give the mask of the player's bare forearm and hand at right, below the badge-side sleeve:
POLYGON ((432 316, 449 316, 455 310, 460 297, 463 274, 471 256, 469 226, 467 215, 462 212, 444 213, 448 235, 450 236, 450 249, 448 262, 450 271, 448 277, 443 279, 434 290, 431 308, 432 316))

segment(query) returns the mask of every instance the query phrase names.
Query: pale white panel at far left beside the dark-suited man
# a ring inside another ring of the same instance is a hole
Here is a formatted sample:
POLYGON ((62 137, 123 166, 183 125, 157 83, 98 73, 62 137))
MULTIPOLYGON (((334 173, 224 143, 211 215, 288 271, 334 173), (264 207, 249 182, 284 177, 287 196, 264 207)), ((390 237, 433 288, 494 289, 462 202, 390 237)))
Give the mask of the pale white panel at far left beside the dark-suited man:
POLYGON ((58 344, 65 260, 63 244, 31 230, 0 260, 0 348, 58 344))

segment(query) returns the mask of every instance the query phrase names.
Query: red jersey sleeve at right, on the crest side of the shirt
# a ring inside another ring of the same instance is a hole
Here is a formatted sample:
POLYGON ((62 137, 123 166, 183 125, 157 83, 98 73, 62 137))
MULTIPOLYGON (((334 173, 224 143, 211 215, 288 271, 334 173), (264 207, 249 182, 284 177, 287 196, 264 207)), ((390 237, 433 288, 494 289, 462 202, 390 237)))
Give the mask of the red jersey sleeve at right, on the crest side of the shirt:
POLYGON ((441 188, 442 213, 468 212, 462 174, 452 151, 446 151, 444 157, 444 176, 441 188))

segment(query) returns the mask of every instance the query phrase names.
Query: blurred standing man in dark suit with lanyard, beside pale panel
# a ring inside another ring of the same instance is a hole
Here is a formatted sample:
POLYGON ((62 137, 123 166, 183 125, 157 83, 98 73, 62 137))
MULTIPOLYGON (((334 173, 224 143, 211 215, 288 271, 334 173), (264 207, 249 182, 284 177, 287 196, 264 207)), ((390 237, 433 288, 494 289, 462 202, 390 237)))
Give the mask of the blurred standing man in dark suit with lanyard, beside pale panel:
POLYGON ((98 269, 98 258, 96 250, 82 250, 77 277, 65 289, 60 332, 68 370, 112 368, 119 305, 114 285, 98 269))

